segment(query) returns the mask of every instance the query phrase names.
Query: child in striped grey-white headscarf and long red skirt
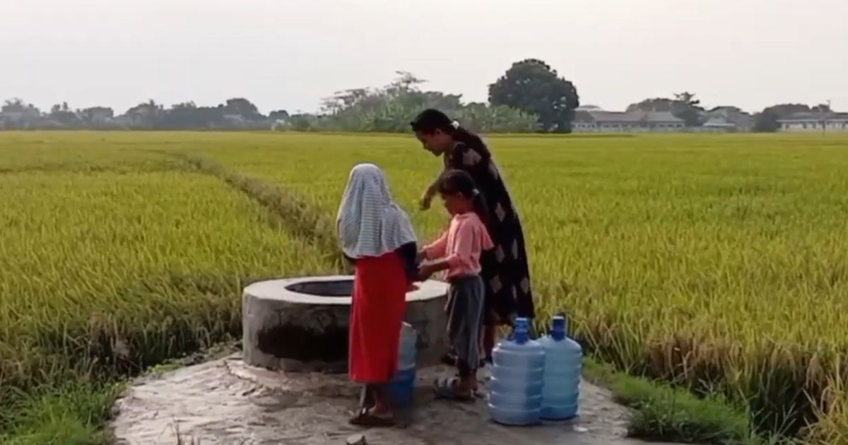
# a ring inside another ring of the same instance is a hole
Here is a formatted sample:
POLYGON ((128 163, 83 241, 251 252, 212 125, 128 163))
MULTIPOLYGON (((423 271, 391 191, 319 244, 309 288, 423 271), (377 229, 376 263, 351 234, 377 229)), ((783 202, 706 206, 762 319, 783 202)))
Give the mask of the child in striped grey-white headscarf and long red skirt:
POLYGON ((351 423, 391 426, 387 384, 397 370, 406 291, 417 275, 415 231, 374 164, 350 171, 337 220, 343 253, 355 269, 349 375, 364 383, 366 392, 351 423), (365 406, 371 397, 374 405, 365 406))

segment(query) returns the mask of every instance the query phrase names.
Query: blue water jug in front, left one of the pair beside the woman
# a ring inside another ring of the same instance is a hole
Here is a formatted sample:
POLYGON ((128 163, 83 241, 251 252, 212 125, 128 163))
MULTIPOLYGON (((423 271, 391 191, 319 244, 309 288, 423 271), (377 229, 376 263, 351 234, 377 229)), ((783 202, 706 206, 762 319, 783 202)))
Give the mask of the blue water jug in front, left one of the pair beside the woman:
POLYGON ((516 320, 511 339, 493 351, 488 412, 503 425, 533 425, 542 413, 544 348, 530 340, 527 319, 516 320))

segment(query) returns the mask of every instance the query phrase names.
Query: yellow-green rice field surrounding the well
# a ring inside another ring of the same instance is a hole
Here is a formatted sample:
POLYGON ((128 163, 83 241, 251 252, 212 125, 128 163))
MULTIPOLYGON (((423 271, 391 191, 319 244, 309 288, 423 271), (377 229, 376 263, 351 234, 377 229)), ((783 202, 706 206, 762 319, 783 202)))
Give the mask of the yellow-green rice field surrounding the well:
MULTIPOLYGON (((563 311, 587 353, 722 394, 760 431, 848 441, 848 136, 487 141, 538 323, 563 311)), ((57 394, 237 338, 243 283, 338 271, 359 162, 422 239, 447 223, 417 210, 441 163, 411 135, 0 132, 0 442, 36 437, 57 394)), ((97 429, 94 411, 51 421, 97 429)))

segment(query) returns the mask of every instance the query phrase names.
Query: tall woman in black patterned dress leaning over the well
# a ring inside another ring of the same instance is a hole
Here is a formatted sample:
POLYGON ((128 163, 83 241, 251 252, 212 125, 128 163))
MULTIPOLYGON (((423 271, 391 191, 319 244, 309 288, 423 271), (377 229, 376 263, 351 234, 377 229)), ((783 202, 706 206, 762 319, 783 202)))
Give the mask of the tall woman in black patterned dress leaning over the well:
MULTIPOLYGON (((444 158, 445 170, 469 173, 485 198, 488 218, 484 222, 495 246, 481 258, 486 284, 483 350, 491 360, 495 328, 511 326, 516 316, 532 319, 535 315, 521 220, 492 153, 479 136, 435 109, 421 112, 411 125, 424 148, 444 158)), ((421 209, 429 209, 437 191, 438 178, 421 197, 421 209)))

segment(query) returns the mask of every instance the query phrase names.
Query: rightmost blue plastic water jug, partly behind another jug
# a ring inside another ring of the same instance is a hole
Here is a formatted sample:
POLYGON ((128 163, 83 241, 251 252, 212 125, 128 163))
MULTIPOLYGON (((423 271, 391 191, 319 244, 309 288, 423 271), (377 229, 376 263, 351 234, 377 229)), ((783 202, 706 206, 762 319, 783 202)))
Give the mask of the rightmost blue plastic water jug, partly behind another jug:
POLYGON ((583 348, 566 337, 565 317, 554 317, 550 334, 541 338, 544 348, 542 419, 569 420, 577 416, 583 348))

